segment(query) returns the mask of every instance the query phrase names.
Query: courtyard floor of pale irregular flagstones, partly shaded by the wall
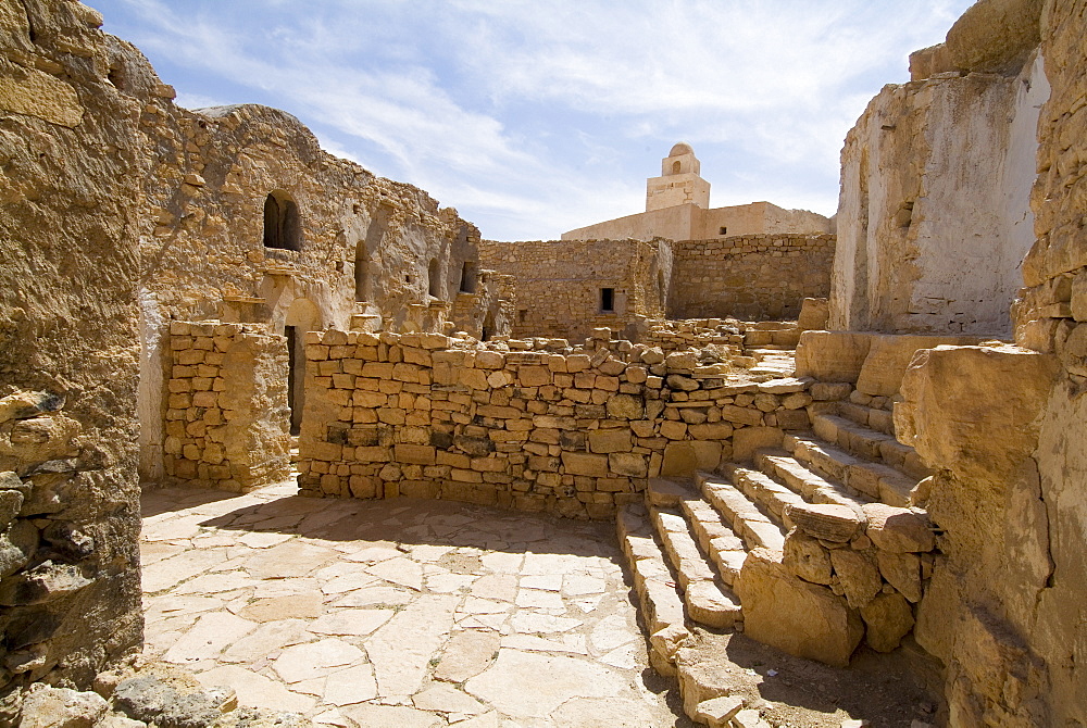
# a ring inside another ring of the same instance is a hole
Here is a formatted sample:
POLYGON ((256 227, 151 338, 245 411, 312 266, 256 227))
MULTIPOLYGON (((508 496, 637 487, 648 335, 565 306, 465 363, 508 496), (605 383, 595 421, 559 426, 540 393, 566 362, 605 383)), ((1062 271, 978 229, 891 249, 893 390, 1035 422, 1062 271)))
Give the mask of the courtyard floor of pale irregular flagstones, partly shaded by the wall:
POLYGON ((459 503, 143 498, 146 654, 330 726, 687 726, 610 524, 459 503))

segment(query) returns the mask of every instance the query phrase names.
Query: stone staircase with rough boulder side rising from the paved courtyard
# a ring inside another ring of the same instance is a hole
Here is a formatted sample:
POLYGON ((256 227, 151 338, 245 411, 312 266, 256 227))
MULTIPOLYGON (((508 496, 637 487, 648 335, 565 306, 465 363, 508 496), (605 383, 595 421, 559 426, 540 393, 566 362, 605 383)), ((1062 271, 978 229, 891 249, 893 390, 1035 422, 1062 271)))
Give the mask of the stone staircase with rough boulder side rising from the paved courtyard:
POLYGON ((689 481, 651 479, 645 504, 621 512, 659 671, 678 671, 684 689, 677 654, 696 626, 837 666, 865 635, 877 651, 898 647, 934 539, 916 507, 929 473, 895 439, 889 404, 851 392, 812 407, 811 430, 780 448, 689 481))

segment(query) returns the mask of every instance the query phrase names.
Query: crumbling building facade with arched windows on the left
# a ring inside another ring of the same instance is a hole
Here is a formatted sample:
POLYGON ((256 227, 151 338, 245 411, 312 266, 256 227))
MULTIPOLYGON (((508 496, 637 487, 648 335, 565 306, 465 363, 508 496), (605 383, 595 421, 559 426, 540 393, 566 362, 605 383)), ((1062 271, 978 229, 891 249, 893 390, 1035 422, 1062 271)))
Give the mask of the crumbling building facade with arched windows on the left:
POLYGON ((455 210, 324 152, 286 112, 176 105, 173 88, 123 40, 107 37, 103 63, 153 149, 151 174, 140 177, 153 221, 140 246, 145 480, 166 475, 172 318, 267 324, 276 334, 453 327, 478 336, 488 321, 508 330, 478 265, 479 231, 455 210))

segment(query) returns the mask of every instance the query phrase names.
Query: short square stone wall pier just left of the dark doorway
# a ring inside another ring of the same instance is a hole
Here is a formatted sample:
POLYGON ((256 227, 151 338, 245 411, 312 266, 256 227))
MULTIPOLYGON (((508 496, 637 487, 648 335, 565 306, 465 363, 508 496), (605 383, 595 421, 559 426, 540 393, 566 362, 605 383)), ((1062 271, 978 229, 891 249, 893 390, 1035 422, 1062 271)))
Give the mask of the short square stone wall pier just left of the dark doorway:
POLYGON ((287 340, 260 324, 171 322, 166 474, 246 492, 290 472, 287 340))

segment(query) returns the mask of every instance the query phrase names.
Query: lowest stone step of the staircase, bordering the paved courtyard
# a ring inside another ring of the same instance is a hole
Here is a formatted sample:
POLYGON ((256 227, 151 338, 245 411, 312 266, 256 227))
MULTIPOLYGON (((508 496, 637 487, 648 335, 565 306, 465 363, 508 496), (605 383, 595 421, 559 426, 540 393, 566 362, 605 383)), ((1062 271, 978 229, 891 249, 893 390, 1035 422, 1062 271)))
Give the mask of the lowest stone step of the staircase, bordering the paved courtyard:
POLYGON ((650 636, 649 661, 661 675, 673 676, 675 649, 689 633, 683 597, 642 506, 621 507, 615 530, 634 579, 638 613, 650 636))

